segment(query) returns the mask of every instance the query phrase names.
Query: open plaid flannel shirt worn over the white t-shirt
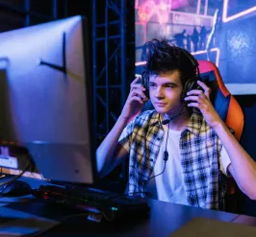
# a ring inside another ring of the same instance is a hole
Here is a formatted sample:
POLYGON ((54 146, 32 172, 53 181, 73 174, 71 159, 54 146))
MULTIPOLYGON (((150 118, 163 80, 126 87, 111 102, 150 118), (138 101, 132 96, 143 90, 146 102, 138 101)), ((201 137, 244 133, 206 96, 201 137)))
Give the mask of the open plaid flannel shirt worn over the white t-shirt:
MULTIPOLYGON (((160 114, 147 110, 128 124, 129 193, 144 192, 164 139, 160 114)), ((226 177, 219 169, 222 148, 217 133, 202 115, 192 113, 180 138, 181 164, 187 200, 192 206, 224 209, 226 177)))

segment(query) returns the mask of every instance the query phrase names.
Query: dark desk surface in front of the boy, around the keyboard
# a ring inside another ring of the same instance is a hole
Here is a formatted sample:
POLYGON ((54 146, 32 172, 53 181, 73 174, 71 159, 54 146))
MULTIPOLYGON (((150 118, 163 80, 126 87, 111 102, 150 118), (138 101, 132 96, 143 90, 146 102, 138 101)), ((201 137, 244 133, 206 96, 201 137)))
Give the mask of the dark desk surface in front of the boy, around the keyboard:
MULTIPOLYGON (((32 183, 33 187, 36 187, 37 183, 38 185, 41 184, 41 181, 37 182, 33 180, 33 182, 31 182, 29 179, 27 181, 32 183)), ((71 208, 46 204, 30 196, 16 200, 2 199, 1 201, 6 201, 5 205, 9 208, 29 212, 53 220, 62 220, 68 215, 78 213, 71 208)), ((140 223, 135 223, 131 220, 131 222, 127 222, 124 225, 108 223, 97 224, 87 221, 84 217, 74 217, 66 219, 62 225, 58 225, 40 236, 168 236, 171 232, 195 217, 256 226, 255 218, 243 215, 206 210, 164 201, 150 200, 149 203, 151 205, 149 217, 142 220, 140 223)))

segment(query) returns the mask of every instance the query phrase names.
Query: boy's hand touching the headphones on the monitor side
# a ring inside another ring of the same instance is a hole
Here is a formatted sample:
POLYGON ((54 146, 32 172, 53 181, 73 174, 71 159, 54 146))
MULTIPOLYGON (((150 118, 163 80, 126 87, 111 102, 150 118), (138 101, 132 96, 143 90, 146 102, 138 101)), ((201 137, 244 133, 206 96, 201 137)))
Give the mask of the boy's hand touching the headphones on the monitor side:
POLYGON ((148 98, 143 93, 145 88, 141 85, 141 83, 138 83, 140 79, 140 77, 137 77, 131 83, 130 93, 120 115, 120 117, 125 120, 129 120, 139 111, 141 111, 144 103, 148 101, 148 98))

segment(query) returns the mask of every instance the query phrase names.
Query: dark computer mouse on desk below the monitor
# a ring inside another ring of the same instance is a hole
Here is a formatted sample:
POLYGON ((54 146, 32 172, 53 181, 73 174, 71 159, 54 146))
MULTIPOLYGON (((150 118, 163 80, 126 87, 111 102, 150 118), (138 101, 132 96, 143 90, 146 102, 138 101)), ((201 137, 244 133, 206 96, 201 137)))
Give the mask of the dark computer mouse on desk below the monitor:
POLYGON ((31 186, 21 180, 14 180, 0 189, 0 197, 22 197, 32 194, 31 186))

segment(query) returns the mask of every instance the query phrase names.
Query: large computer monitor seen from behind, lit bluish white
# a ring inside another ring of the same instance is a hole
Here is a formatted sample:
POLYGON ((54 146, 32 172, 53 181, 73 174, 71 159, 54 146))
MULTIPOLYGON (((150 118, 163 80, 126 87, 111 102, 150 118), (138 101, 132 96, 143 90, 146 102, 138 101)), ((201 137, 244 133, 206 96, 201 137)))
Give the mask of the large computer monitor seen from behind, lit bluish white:
POLYGON ((0 145, 25 147, 49 180, 96 178, 88 35, 82 16, 0 34, 0 145))

